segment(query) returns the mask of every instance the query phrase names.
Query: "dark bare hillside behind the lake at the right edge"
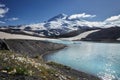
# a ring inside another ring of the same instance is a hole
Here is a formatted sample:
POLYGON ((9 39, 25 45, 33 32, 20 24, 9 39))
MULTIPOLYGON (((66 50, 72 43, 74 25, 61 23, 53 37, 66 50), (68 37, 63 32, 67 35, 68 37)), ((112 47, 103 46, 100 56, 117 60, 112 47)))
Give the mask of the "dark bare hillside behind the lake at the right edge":
POLYGON ((120 38, 120 27, 110 27, 93 32, 83 40, 117 40, 120 38))

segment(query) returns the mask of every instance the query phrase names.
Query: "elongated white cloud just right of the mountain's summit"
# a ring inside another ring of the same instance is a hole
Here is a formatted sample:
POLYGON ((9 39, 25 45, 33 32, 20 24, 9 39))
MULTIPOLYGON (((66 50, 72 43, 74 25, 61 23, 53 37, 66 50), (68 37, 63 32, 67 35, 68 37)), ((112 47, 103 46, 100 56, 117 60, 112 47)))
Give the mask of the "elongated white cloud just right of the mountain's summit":
POLYGON ((69 16, 68 19, 81 19, 81 18, 93 18, 96 17, 96 15, 90 15, 90 14, 86 14, 86 13, 82 13, 82 14, 74 14, 69 16))

